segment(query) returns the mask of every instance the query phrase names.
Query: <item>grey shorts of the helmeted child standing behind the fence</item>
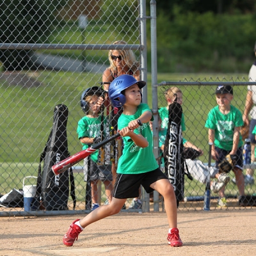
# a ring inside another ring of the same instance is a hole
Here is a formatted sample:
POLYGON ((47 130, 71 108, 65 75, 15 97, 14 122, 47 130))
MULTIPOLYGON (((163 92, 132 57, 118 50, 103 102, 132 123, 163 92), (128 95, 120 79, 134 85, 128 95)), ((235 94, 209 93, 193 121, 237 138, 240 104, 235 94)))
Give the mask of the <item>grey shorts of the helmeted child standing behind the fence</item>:
MULTIPOLYGON (((84 181, 88 180, 88 158, 84 158, 84 181)), ((111 164, 98 165, 90 160, 90 180, 101 180, 102 182, 113 180, 111 164)))

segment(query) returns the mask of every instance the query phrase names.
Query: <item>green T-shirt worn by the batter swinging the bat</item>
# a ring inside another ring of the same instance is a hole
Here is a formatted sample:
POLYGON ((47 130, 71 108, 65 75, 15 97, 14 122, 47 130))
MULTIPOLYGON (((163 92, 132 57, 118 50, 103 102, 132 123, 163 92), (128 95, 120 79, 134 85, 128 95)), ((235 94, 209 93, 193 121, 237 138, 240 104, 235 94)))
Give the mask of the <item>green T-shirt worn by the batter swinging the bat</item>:
MULTIPOLYGON (((147 104, 141 103, 134 115, 120 115, 118 118, 118 129, 127 127, 129 122, 138 119, 145 111, 151 111, 147 104)), ((152 116, 153 120, 153 116, 152 116)), ((139 174, 150 172, 158 168, 157 161, 153 154, 153 140, 149 123, 135 129, 133 132, 141 134, 148 141, 148 147, 141 148, 135 145, 131 137, 125 136, 123 154, 118 161, 116 172, 122 174, 139 174)))

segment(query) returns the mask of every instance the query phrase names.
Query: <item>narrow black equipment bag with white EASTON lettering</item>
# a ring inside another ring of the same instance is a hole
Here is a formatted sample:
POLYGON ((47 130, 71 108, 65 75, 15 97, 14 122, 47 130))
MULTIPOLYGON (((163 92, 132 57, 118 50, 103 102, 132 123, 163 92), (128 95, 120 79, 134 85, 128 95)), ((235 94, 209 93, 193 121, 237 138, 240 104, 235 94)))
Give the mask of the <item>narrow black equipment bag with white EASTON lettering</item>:
POLYGON ((169 106, 169 122, 164 141, 164 170, 165 174, 173 184, 176 195, 177 206, 184 197, 184 156, 182 143, 182 107, 175 100, 169 106))

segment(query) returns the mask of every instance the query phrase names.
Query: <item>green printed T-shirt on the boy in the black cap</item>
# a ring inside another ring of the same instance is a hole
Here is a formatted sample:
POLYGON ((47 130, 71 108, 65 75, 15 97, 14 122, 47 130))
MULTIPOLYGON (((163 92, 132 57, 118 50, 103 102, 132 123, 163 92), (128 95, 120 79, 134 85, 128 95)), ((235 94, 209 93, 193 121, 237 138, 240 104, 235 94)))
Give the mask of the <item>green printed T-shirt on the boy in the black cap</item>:
MULTIPOLYGON (((207 116, 205 127, 215 131, 214 145, 224 150, 232 150, 235 127, 243 126, 242 114, 236 107, 230 105, 230 112, 223 115, 219 106, 212 108, 207 116)), ((239 134, 238 147, 243 145, 239 134)))

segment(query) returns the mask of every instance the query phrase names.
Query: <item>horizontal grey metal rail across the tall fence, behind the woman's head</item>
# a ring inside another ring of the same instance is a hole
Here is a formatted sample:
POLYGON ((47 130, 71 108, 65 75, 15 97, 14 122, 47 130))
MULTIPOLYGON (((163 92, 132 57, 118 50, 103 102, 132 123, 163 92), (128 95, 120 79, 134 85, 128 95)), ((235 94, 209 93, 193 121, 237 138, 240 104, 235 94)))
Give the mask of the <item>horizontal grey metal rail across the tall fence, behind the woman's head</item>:
POLYGON ((0 50, 143 50, 140 44, 0 44, 0 50))

